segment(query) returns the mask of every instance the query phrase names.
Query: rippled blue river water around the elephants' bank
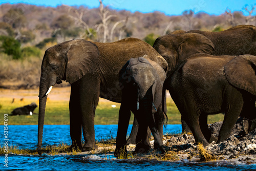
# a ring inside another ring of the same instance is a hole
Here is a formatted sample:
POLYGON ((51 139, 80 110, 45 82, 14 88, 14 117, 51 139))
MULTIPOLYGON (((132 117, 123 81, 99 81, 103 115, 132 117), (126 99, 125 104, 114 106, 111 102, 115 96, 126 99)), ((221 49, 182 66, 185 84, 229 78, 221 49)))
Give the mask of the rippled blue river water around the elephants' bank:
MULTIPOLYGON (((129 126, 128 133, 131 132, 129 126)), ((4 132, 4 125, 0 125, 4 132)), ((181 125, 167 125, 164 133, 180 133, 181 125)), ((117 125, 95 125, 96 139, 116 137, 117 125)), ((4 134, 0 134, 1 145, 5 142, 4 134)), ((8 145, 19 148, 35 148, 37 146, 37 125, 8 125, 8 145)), ((45 125, 43 146, 71 144, 69 125, 45 125)), ((0 170, 256 170, 255 164, 228 162, 168 162, 142 159, 116 159, 109 155, 8 155, 8 167, 5 166, 5 154, 0 155, 0 170)))

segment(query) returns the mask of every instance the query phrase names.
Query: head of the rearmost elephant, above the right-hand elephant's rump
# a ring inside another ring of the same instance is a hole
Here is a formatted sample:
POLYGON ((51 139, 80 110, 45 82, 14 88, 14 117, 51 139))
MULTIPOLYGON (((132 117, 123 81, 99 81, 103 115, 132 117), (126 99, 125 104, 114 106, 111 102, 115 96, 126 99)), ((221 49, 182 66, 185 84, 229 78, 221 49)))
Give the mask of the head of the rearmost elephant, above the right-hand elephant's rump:
POLYGON ((207 37, 198 33, 181 33, 160 36, 153 47, 168 63, 168 72, 179 62, 196 53, 214 54, 215 46, 207 37))

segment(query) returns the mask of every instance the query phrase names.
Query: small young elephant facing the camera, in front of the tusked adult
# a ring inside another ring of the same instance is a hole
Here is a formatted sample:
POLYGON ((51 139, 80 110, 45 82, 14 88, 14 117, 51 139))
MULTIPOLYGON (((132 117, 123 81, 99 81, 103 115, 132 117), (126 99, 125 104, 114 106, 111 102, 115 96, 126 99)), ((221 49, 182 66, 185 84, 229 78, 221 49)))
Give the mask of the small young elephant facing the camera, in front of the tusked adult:
POLYGON ((134 153, 147 153, 151 149, 147 138, 147 127, 150 127, 155 143, 160 147, 161 152, 165 153, 161 129, 164 118, 167 118, 166 92, 163 92, 166 73, 156 62, 146 59, 146 57, 145 55, 131 58, 119 72, 122 101, 114 153, 116 157, 119 157, 120 154, 127 154, 126 133, 131 111, 139 125, 134 153))

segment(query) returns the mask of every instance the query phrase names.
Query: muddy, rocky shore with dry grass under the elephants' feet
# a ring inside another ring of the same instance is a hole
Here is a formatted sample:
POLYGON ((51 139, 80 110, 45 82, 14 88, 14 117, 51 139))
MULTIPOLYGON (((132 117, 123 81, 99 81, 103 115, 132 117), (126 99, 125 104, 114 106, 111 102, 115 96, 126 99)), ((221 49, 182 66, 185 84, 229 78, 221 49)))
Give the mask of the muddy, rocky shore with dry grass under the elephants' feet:
MULTIPOLYGON (((212 142, 204 149, 206 153, 215 157, 213 160, 202 161, 201 154, 199 153, 198 145, 191 134, 177 134, 165 135, 163 143, 166 147, 167 154, 174 153, 175 155, 168 159, 164 155, 158 154, 154 149, 147 154, 134 155, 132 158, 141 160, 164 160, 169 162, 189 162, 189 163, 204 163, 212 162, 215 164, 233 163, 233 164, 256 164, 256 129, 247 133, 243 129, 243 119, 240 118, 234 129, 232 135, 224 142, 219 144, 212 142), (157 157, 156 157, 157 156, 157 157)), ((222 122, 212 123, 209 127, 212 134, 218 136, 219 129, 222 122)), ((151 140, 153 147, 154 140, 151 140)), ((94 160, 95 155, 102 155, 102 151, 106 148, 112 149, 105 155, 114 155, 115 145, 108 147, 99 147, 97 150, 90 152, 82 152, 77 155, 87 155, 83 157, 85 160, 94 160)), ((134 144, 127 145, 127 151, 132 153, 135 149, 134 144)), ((62 153, 60 155, 67 155, 62 153)))

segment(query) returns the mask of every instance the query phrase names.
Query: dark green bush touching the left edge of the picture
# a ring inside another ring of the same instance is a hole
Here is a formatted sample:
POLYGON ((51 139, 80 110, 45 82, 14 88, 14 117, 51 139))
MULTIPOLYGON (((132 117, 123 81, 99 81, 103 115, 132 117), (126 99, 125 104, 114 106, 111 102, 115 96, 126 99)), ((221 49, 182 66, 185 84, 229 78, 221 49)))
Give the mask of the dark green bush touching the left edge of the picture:
POLYGON ((22 57, 22 53, 20 51, 20 42, 15 40, 10 36, 0 36, 0 41, 2 41, 2 45, 0 50, 8 55, 12 55, 13 59, 19 59, 22 57))

